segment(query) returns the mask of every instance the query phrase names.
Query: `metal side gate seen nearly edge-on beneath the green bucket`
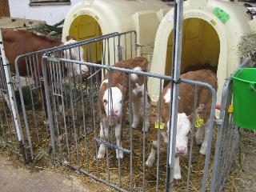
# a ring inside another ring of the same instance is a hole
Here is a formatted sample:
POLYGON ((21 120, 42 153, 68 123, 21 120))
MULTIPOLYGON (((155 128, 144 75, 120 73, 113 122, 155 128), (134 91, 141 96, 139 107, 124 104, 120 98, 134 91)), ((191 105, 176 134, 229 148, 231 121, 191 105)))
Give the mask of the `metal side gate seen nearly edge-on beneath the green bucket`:
MULTIPOLYGON (((250 58, 246 58, 241 66, 246 67, 250 58)), ((232 114, 233 79, 230 76, 223 86, 221 113, 218 119, 218 138, 214 155, 214 170, 212 174, 211 190, 222 191, 226 177, 230 173, 234 157, 237 154, 240 138, 240 127, 234 125, 232 114)))

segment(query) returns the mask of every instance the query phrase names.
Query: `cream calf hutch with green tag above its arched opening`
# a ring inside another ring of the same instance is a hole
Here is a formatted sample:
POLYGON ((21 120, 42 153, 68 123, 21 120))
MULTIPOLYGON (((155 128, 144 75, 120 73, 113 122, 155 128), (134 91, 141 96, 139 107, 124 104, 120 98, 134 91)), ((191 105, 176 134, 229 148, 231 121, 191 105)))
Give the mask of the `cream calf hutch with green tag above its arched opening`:
MULTIPOLYGON (((184 3, 182 39, 182 69, 188 66, 210 64, 218 66, 218 103, 221 100, 225 79, 241 62, 238 42, 243 34, 251 31, 250 15, 246 7, 234 2, 216 0, 188 0, 184 3), (217 10, 219 18, 214 14, 217 10), (220 10, 224 12, 220 13, 220 10), (228 14, 229 16, 226 16, 228 14), (222 21, 221 19, 226 19, 222 21)), ((154 55, 150 72, 169 74, 172 61, 172 30, 174 9, 162 19, 154 42, 154 55)), ((149 80, 149 93, 157 100, 158 84, 149 80)))

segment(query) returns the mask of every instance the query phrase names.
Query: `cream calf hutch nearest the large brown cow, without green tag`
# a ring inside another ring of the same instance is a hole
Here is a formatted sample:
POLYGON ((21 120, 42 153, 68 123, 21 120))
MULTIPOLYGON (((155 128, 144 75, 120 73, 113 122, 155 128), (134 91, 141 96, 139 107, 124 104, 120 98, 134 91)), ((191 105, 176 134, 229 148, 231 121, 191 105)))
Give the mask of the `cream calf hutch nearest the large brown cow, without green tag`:
MULTIPOLYGON (((66 14, 62 40, 65 41, 67 35, 73 35, 81 41, 99 35, 136 30, 138 44, 153 45, 158 25, 168 10, 170 6, 158 0, 84 0, 66 14)), ((127 37, 126 42, 130 41, 127 37)), ((121 42, 121 45, 125 49, 125 42, 121 42)), ((102 51, 99 51, 98 55, 101 54, 102 51)), ((127 57, 130 57, 129 52, 127 57)))

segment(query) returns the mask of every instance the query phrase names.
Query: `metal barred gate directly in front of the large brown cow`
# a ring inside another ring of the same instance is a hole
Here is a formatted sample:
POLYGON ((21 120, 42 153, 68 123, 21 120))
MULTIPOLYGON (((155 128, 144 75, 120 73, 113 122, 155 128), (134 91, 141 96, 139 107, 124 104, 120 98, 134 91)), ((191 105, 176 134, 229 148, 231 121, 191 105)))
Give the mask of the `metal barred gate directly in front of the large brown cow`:
MULTIPOLYGON (((85 57, 77 59, 83 59, 83 61, 93 60, 94 62, 114 63, 122 56, 118 53, 123 52, 124 58, 130 57, 135 51, 128 48, 128 44, 131 43, 131 41, 134 41, 132 38, 136 38, 136 36, 132 37, 132 33, 133 32, 130 32, 130 37, 128 37, 128 33, 124 34, 124 38, 122 40, 119 39, 119 42, 118 36, 116 35, 118 33, 113 33, 94 38, 93 40, 89 39, 76 43, 73 47, 86 46, 84 47, 84 49, 86 49, 86 53, 84 54, 85 57), (112 44, 114 46, 109 48, 112 44), (114 50, 110 50, 112 48, 114 50), (93 49, 95 51, 94 55, 92 55, 93 49), (98 58, 97 53, 99 51, 102 52, 100 58, 98 58), (114 54, 110 55, 110 52, 114 54)), ((46 154, 51 154, 52 150, 54 150, 54 130, 49 126, 48 118, 50 120, 51 117, 47 116, 47 98, 44 88, 45 80, 42 78, 42 56, 43 54, 50 54, 54 56, 55 59, 58 59, 61 55, 65 55, 66 58, 72 58, 74 50, 71 49, 72 46, 70 45, 59 46, 57 48, 54 47, 29 54, 23 54, 18 56, 15 60, 16 79, 14 81, 14 86, 18 87, 18 111, 22 117, 21 132, 22 135, 24 135, 23 142, 27 161, 37 161, 46 154), (25 63, 26 69, 20 69, 19 66, 21 63, 25 63), (20 76, 21 70, 22 74, 26 74, 26 80, 23 80, 23 82, 22 77, 20 76), (24 86, 24 84, 26 86, 24 86)), ((92 69, 92 71, 93 70, 94 69, 92 69)), ((47 70, 47 73, 48 72, 50 73, 50 71, 47 70)), ((55 72, 56 71, 54 71, 54 73, 55 72)), ((54 78, 56 77, 54 76, 54 78)))

